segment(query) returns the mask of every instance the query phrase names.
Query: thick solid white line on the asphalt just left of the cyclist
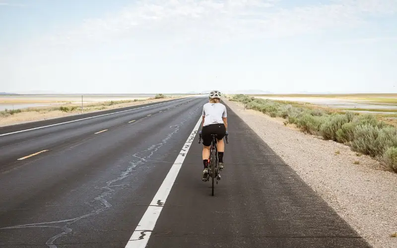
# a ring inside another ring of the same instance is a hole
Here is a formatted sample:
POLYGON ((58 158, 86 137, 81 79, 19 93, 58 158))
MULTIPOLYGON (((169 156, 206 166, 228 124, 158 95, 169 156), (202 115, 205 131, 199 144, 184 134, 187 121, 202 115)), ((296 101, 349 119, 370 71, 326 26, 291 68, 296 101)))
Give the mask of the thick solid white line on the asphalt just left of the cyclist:
POLYGON ((168 194, 174 185, 175 179, 177 178, 179 170, 182 167, 186 154, 188 154, 189 148, 191 147, 196 133, 199 130, 200 124, 201 118, 197 122, 195 128, 193 128, 192 133, 189 135, 188 140, 186 140, 186 143, 182 147, 181 152, 179 153, 157 193, 154 195, 154 198, 149 204, 149 207, 146 209, 146 212, 143 214, 142 219, 140 219, 138 226, 135 228, 135 231, 132 233, 132 236, 126 245, 126 248, 146 247, 150 238, 150 234, 156 225, 157 219, 160 216, 168 194))

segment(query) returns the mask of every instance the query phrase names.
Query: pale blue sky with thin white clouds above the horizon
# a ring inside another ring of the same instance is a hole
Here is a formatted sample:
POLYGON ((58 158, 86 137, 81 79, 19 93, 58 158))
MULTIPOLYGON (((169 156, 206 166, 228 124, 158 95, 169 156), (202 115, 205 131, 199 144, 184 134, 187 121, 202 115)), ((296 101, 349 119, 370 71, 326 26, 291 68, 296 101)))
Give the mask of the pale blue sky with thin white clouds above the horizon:
POLYGON ((397 0, 0 0, 0 92, 397 93, 397 0))

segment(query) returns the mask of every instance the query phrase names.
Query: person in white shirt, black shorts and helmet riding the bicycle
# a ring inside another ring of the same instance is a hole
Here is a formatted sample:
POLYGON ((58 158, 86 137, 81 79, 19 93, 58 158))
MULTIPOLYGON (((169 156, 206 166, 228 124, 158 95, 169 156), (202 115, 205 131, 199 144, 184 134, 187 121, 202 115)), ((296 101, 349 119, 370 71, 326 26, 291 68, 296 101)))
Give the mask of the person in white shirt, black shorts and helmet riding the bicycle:
MULTIPOLYGON (((202 162, 204 164, 204 171, 202 172, 202 181, 207 181, 208 176, 208 160, 210 156, 211 134, 217 135, 217 150, 219 158, 219 170, 224 169, 223 153, 225 151, 225 144, 223 137, 226 134, 227 128, 227 113, 225 105, 220 103, 222 94, 217 91, 209 93, 209 103, 204 104, 202 108, 202 121, 201 121, 201 135, 202 135, 202 162)), ((218 174, 218 180, 220 175, 218 174)))

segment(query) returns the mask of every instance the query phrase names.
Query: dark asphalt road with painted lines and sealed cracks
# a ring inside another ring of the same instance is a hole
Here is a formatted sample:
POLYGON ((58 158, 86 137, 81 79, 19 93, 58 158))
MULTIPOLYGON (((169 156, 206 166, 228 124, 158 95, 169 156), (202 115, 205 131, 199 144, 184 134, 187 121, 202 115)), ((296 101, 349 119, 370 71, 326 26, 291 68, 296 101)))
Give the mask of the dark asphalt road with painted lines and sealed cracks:
POLYGON ((370 247, 230 109, 211 196, 205 102, 0 128, 0 247, 370 247))

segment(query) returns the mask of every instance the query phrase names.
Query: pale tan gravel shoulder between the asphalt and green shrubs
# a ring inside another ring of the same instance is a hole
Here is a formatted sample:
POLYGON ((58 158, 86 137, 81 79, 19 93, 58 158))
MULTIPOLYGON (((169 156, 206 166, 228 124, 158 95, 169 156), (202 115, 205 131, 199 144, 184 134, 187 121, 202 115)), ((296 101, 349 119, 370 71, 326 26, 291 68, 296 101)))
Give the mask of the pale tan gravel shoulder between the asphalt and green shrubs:
POLYGON ((279 119, 224 101, 374 248, 396 248, 397 174, 346 145, 307 135, 279 119), (359 164, 353 164, 358 161, 359 164))

